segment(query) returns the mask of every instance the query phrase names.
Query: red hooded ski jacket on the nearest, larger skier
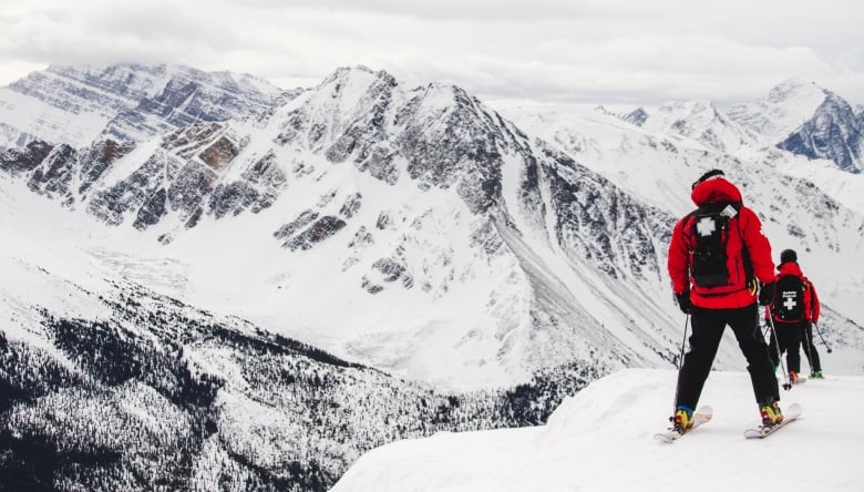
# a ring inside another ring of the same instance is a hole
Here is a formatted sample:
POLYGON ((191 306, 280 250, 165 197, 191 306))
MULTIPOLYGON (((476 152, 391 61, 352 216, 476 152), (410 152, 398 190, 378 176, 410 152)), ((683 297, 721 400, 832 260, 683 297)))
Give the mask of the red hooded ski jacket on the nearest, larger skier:
MULTIPOLYGON (((741 192, 723 177, 699 183, 693 187, 690 198, 697 206, 708 203, 741 203, 741 192)), ((693 247, 693 222, 688 214, 675 225, 669 243, 669 276, 676 294, 690 291, 693 306, 708 309, 731 309, 747 307, 755 303, 757 289, 752 278, 748 278, 744 265, 748 259, 752 266, 752 276, 765 284, 774 279, 774 262, 771 259, 771 244, 762 234, 759 216, 745 206, 741 206, 734 217, 729 219, 729 236, 726 242, 728 285, 700 287, 690 275, 693 247), (747 255, 748 258, 744 258, 747 255)))

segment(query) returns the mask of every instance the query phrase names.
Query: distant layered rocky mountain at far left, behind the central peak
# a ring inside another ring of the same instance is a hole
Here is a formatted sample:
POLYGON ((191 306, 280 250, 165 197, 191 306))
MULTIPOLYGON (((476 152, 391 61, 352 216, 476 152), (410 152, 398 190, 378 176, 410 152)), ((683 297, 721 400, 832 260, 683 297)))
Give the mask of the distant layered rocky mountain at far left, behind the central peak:
POLYGON ((280 93, 251 75, 185 65, 52 65, 0 88, 0 150, 32 140, 73 147, 100 136, 141 142, 257 113, 280 93))

